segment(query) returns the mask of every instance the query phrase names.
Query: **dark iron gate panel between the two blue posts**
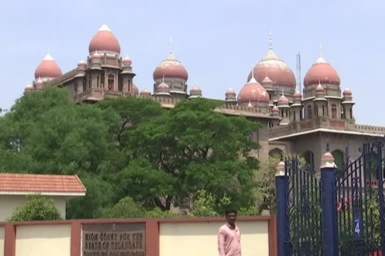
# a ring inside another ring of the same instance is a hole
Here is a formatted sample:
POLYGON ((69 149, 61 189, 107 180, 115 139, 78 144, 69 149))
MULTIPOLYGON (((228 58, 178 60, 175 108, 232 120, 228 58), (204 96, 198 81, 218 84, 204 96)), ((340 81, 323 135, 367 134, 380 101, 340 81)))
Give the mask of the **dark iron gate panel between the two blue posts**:
POLYGON ((314 173, 313 162, 304 164, 296 157, 285 161, 288 255, 322 255, 321 184, 314 173))

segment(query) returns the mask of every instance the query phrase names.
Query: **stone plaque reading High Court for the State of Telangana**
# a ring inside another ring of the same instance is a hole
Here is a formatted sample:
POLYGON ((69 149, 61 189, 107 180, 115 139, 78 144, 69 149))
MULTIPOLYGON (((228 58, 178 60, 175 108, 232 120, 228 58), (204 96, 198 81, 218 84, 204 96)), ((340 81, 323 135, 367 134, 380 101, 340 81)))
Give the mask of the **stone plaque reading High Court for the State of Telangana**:
POLYGON ((82 252, 83 256, 145 256, 145 224, 84 224, 82 252))

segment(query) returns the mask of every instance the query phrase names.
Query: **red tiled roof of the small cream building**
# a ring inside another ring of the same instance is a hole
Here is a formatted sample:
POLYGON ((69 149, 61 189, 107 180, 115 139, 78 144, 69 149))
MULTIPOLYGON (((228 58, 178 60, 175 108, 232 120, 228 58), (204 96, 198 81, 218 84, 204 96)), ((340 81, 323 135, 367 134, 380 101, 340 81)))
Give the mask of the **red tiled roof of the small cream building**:
POLYGON ((78 175, 0 173, 0 193, 85 194, 78 175))

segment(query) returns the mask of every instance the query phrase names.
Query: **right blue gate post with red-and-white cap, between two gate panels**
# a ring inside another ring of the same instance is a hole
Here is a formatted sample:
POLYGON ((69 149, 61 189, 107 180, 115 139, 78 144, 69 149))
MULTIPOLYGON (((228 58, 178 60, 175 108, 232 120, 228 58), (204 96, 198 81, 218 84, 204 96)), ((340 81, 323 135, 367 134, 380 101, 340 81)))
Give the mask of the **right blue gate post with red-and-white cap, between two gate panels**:
POLYGON ((323 255, 338 255, 337 198, 335 183, 335 164, 331 153, 326 152, 321 158, 322 190, 322 233, 323 255))

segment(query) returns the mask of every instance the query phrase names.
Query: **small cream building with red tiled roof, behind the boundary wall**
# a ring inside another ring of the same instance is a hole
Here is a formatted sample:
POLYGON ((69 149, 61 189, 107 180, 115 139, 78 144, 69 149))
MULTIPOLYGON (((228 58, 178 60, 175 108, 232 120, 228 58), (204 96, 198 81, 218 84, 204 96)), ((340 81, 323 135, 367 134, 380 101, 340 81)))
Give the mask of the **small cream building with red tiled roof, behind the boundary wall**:
POLYGON ((65 218, 66 201, 86 195, 86 188, 78 175, 0 173, 0 221, 7 219, 17 206, 25 203, 30 194, 52 198, 65 218))

